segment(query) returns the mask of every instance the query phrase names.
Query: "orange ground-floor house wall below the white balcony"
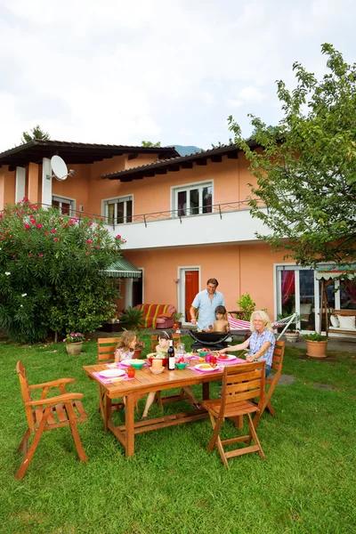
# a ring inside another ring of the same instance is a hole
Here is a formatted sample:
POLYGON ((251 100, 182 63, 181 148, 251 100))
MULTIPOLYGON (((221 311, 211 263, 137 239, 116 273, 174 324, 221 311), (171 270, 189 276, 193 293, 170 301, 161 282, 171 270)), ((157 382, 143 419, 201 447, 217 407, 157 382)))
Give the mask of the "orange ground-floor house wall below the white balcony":
POLYGON ((283 253, 271 253, 264 244, 221 247, 184 247, 125 252, 130 262, 144 266, 144 300, 146 303, 170 303, 177 306, 178 267, 199 266, 201 289, 206 280, 216 278, 218 290, 225 297, 228 310, 236 310, 240 295, 249 293, 256 309, 267 308, 271 319, 274 310, 273 264, 284 263, 283 253))

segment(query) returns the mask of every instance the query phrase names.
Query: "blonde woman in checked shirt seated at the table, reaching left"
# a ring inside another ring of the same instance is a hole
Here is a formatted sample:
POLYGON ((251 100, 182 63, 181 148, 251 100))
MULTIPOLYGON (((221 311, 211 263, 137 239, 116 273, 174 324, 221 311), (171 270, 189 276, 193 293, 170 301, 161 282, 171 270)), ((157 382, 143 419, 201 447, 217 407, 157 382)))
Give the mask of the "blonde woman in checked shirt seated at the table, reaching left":
POLYGON ((259 310, 251 315, 252 335, 238 345, 228 346, 219 352, 234 352, 250 349, 251 354, 246 357, 247 361, 266 360, 266 376, 271 371, 272 357, 276 338, 273 335, 271 319, 266 312, 259 310))

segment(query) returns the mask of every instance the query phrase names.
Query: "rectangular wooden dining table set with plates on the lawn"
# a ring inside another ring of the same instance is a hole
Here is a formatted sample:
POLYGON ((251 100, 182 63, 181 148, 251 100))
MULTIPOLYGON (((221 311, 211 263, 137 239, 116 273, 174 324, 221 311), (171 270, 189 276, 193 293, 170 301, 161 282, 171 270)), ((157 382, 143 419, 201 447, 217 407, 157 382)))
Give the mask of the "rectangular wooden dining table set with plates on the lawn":
MULTIPOLYGON (((246 362, 245 362, 246 363, 246 362)), ((193 367, 197 361, 190 362, 193 367)), ((203 384, 203 400, 209 399, 209 383, 221 380, 223 370, 214 370, 213 372, 197 373, 190 367, 185 369, 174 369, 168 371, 165 368, 160 375, 151 373, 149 367, 143 367, 136 370, 135 376, 131 380, 122 380, 109 383, 102 380, 99 376, 94 375, 100 371, 106 370, 105 364, 85 366, 85 373, 89 378, 95 380, 101 385, 104 392, 104 429, 110 430, 117 440, 125 448, 125 456, 134 455, 134 436, 138 433, 166 428, 168 426, 182 425, 191 421, 198 421, 208 417, 206 410, 189 409, 188 411, 174 413, 152 419, 134 421, 134 404, 143 395, 149 392, 160 392, 174 388, 182 388, 186 385, 203 384), (125 425, 115 425, 112 419, 112 399, 125 398, 125 425)))

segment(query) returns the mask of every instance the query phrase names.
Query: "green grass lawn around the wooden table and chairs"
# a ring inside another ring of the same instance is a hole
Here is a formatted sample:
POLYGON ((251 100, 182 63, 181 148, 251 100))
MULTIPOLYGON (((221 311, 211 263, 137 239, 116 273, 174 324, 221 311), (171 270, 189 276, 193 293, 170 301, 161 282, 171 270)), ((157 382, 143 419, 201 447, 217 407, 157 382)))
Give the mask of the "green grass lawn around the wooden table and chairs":
MULTIPOLYGON (((188 338, 183 341, 189 344, 188 338)), ((96 361, 94 341, 80 356, 67 355, 63 344, 0 344, 0 532, 355 531, 356 358, 333 352, 336 361, 299 360, 300 353, 287 348, 283 372, 294 375, 295 382, 278 385, 272 398, 277 417, 264 414, 258 426, 266 460, 257 454, 234 458, 227 471, 218 452, 206 450, 208 419, 139 434, 135 456, 125 458, 116 438, 103 431, 96 384, 82 370, 96 361), (17 360, 27 368, 30 384, 76 378, 70 391, 85 394, 89 415, 78 426, 88 464, 79 462, 69 429, 59 429, 43 435, 24 478, 14 478, 26 425, 17 360), (314 383, 336 389, 316 389, 314 383)), ((194 391, 201 398, 200 386, 194 391)), ((211 391, 216 394, 218 385, 211 391)), ((165 410, 176 408, 172 403, 165 410)), ((160 414, 158 406, 150 414, 160 414)), ((227 435, 231 430, 227 425, 227 435)))

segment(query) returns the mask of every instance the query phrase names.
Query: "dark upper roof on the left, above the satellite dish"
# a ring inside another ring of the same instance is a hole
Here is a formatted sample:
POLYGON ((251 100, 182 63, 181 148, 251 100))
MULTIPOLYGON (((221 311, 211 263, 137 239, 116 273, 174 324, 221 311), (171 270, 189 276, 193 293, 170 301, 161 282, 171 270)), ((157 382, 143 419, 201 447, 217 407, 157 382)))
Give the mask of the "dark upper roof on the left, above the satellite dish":
POLYGON ((0 166, 8 165, 10 170, 28 163, 42 163, 42 158, 61 156, 67 165, 93 163, 105 158, 128 154, 129 159, 137 158, 138 154, 157 154, 158 158, 179 156, 174 147, 133 147, 126 145, 106 145, 85 142, 44 141, 35 139, 21 144, 11 150, 0 153, 0 166))

